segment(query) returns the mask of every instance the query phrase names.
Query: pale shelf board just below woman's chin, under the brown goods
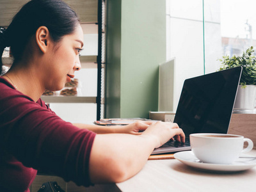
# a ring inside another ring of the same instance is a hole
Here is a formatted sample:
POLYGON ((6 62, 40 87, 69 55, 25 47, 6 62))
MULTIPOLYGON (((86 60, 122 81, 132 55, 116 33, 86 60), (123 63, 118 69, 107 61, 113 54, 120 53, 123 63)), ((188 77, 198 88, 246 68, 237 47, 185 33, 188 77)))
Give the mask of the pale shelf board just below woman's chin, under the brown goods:
POLYGON ((77 97, 77 96, 42 96, 45 103, 96 103, 96 97, 77 97))

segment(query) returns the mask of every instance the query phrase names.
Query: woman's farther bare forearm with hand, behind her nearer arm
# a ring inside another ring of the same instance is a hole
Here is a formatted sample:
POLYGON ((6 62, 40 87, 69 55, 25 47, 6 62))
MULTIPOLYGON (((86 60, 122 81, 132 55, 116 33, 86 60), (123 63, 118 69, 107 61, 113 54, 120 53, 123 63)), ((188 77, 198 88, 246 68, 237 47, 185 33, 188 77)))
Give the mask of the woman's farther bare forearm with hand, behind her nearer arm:
POLYGON ((81 129, 88 129, 96 132, 97 134, 106 133, 128 133, 128 134, 141 134, 141 131, 145 131, 153 121, 137 121, 130 125, 113 125, 113 126, 102 126, 102 125, 86 125, 86 124, 73 124, 81 129))

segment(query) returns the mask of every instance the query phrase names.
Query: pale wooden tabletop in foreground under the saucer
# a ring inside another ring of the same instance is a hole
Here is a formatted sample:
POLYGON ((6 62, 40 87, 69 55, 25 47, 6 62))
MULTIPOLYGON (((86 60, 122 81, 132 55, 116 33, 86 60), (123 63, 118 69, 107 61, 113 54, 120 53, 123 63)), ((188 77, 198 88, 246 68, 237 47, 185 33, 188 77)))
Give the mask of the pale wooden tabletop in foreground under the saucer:
MULTIPOLYGON (((256 156, 256 150, 248 154, 256 156)), ((140 173, 116 186, 120 191, 256 191, 256 166, 236 173, 196 170, 176 159, 148 161, 140 173)))

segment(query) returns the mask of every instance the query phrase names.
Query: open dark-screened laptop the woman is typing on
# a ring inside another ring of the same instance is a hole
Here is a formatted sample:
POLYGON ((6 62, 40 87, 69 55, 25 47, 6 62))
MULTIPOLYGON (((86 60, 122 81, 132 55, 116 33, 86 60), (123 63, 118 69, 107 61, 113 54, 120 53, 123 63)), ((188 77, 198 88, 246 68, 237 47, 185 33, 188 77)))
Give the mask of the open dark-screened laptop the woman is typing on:
POLYGON ((186 142, 168 141, 152 154, 190 150, 189 134, 227 134, 242 67, 186 79, 173 122, 186 135, 186 142))

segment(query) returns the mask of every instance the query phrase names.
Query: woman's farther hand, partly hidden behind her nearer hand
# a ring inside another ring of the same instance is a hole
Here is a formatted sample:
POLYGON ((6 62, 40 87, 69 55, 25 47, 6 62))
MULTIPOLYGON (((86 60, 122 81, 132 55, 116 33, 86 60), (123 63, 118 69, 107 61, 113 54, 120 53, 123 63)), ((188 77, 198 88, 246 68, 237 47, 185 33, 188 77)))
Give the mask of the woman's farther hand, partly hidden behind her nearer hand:
POLYGON ((140 135, 153 123, 154 121, 137 121, 129 125, 115 126, 113 127, 113 129, 115 133, 128 133, 128 134, 140 135))

